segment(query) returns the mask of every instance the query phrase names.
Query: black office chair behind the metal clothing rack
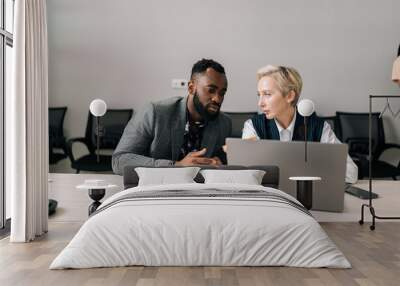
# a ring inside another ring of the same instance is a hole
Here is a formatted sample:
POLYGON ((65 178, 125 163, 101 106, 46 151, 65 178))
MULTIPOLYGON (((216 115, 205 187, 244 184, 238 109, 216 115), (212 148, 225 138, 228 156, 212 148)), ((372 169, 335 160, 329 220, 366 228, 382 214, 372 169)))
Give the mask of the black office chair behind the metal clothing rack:
MULTIPOLYGON (((383 120, 380 113, 372 113, 372 177, 396 180, 400 176, 400 162, 397 167, 379 160, 382 152, 389 148, 399 148, 397 144, 386 144, 383 120)), ((349 145, 349 154, 359 168, 359 178, 369 176, 369 113, 336 112, 339 139, 349 145)))

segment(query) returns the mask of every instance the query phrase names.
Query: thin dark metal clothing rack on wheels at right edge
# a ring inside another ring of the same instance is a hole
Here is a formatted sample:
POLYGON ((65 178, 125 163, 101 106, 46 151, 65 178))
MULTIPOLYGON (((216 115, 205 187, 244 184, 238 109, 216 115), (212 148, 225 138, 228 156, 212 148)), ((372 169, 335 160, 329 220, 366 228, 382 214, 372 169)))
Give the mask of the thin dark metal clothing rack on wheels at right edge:
POLYGON ((369 121, 368 121, 368 128, 369 128, 369 135, 368 135, 368 149, 369 149, 369 203, 368 204, 362 204, 361 206, 361 219, 358 221, 360 224, 364 224, 364 208, 369 208, 369 211, 371 212, 372 215, 372 225, 370 225, 370 229, 374 230, 375 229, 375 219, 400 219, 400 217, 384 217, 384 216, 378 216, 375 213, 375 208, 372 205, 372 100, 374 98, 377 99, 389 99, 389 98, 400 98, 400 95, 370 95, 369 96, 369 121))

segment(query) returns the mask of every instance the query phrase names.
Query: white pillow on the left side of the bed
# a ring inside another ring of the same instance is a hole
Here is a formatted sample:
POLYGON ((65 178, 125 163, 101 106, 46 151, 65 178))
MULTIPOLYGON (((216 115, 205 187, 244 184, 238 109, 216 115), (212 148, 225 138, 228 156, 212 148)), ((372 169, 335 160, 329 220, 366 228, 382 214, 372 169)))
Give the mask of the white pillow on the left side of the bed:
POLYGON ((199 167, 135 168, 139 176, 139 186, 195 183, 193 179, 199 170, 199 167))

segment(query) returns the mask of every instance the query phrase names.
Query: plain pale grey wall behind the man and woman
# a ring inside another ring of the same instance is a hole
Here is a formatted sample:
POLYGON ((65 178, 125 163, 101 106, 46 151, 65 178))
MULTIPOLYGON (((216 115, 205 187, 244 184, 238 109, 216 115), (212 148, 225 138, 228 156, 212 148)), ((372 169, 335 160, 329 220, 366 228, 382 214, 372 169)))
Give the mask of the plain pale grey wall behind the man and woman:
MULTIPOLYGON (((256 109, 255 71, 265 64, 297 68, 302 96, 322 115, 400 94, 390 81, 398 0, 49 0, 47 9, 49 104, 68 106, 70 137, 84 134, 94 98, 137 110, 185 95, 171 79, 187 78, 202 57, 225 66, 229 111, 256 109)), ((389 141, 400 141, 399 120, 386 122, 389 141)))

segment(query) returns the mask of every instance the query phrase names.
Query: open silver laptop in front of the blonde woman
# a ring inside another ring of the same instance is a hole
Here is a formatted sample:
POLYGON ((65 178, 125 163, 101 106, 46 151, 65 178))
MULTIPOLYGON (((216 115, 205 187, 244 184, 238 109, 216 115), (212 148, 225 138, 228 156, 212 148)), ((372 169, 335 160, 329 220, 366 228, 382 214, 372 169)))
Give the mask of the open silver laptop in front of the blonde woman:
POLYGON ((296 197, 292 176, 317 176, 313 182, 313 208, 341 212, 344 205, 346 144, 307 143, 277 140, 242 140, 227 138, 229 165, 276 165, 279 167, 279 189, 296 197))

